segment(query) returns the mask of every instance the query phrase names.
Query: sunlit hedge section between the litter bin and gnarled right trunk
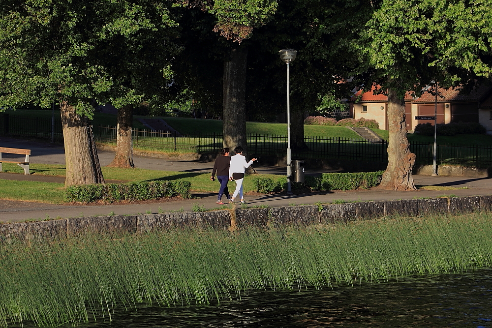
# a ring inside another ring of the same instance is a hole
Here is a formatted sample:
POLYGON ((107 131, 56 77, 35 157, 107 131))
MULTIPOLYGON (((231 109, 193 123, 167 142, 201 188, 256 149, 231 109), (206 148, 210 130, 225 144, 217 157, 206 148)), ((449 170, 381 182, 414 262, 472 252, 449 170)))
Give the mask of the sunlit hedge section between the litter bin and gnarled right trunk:
POLYGON ((379 184, 384 171, 358 173, 323 173, 322 190, 368 189, 379 184))

